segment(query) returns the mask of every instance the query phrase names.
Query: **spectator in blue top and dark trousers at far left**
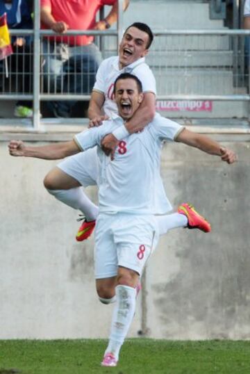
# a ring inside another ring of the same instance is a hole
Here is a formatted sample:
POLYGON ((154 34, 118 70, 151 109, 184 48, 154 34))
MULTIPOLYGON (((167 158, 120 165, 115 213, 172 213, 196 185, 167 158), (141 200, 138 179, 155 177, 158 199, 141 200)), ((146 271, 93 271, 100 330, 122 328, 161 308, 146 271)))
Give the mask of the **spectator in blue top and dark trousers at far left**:
MULTIPOLYGON (((9 29, 33 29, 31 0, 0 0, 0 15, 7 14, 9 29)), ((11 38, 13 55, 8 58, 11 77, 17 76, 17 92, 29 93, 32 87, 33 47, 30 36, 11 38)), ((32 102, 19 100, 16 117, 32 117, 32 102)))

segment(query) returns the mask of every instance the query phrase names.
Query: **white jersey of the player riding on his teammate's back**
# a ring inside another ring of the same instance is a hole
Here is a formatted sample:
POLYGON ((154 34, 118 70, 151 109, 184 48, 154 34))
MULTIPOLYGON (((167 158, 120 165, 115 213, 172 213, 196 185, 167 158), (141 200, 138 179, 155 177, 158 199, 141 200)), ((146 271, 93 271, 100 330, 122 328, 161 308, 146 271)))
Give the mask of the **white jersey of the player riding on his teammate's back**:
POLYGON ((114 101, 114 83, 117 76, 122 73, 130 73, 138 77, 142 82, 143 92, 153 92, 156 95, 156 79, 145 63, 145 58, 139 58, 131 65, 119 70, 119 57, 113 56, 103 60, 99 69, 97 70, 96 82, 94 83, 94 91, 104 94, 105 101, 103 104, 103 111, 110 117, 114 118, 118 115, 117 104, 114 101))

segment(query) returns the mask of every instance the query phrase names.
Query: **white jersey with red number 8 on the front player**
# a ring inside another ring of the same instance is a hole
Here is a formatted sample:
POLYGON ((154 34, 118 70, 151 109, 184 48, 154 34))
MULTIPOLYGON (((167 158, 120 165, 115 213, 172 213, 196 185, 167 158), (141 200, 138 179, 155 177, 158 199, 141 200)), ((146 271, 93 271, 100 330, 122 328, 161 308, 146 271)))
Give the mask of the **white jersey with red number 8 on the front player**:
POLYGON ((151 214, 155 209, 156 174, 161 143, 174 140, 183 127, 156 114, 142 133, 134 133, 119 142, 115 160, 101 148, 103 136, 123 124, 121 117, 103 122, 101 127, 83 131, 74 140, 82 150, 98 145, 99 207, 103 213, 151 214))

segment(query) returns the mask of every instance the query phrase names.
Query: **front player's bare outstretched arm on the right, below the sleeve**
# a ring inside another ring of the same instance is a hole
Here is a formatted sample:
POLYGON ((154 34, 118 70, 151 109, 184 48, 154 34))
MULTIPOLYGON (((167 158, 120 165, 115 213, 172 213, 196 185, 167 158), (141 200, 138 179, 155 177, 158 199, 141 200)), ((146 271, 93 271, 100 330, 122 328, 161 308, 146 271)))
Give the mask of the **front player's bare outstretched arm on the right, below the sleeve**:
POLYGON ((194 133, 187 129, 183 129, 183 131, 178 134, 176 141, 201 149, 201 151, 208 154, 220 156, 222 161, 226 161, 227 163, 234 163, 237 161, 237 156, 231 149, 222 147, 219 143, 208 136, 194 133))

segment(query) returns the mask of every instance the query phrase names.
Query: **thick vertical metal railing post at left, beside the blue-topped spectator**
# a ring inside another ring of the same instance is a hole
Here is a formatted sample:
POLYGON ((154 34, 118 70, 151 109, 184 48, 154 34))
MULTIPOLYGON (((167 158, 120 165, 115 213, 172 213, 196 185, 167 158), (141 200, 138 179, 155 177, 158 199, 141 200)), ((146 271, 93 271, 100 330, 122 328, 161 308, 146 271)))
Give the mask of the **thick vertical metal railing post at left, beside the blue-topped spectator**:
POLYGON ((40 0, 34 0, 33 127, 40 127, 40 0))

